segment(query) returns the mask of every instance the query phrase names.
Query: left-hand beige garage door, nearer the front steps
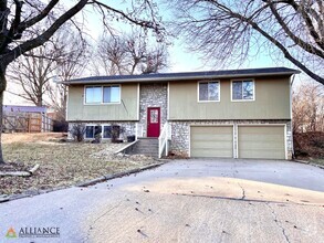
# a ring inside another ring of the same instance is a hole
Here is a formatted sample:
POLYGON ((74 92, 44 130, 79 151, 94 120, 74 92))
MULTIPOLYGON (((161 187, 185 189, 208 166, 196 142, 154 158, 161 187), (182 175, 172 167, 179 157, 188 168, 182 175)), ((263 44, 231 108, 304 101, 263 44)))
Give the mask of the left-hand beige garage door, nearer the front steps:
POLYGON ((192 126, 190 157, 233 157, 232 126, 192 126))

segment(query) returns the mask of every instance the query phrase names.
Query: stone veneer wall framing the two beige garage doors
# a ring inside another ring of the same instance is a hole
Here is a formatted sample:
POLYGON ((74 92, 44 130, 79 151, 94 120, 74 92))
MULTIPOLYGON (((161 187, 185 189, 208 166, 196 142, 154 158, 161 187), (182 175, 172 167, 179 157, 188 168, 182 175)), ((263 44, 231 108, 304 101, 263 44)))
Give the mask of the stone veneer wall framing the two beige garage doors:
POLYGON ((292 141, 292 127, 291 122, 288 120, 185 120, 185 122, 169 122, 171 126, 171 147, 170 152, 180 156, 189 156, 189 144, 190 144, 190 135, 189 127, 190 125, 234 125, 234 151, 237 155, 236 148, 238 142, 237 136, 237 127, 238 125, 244 124, 285 124, 286 125, 286 147, 288 147, 288 159, 292 159, 293 155, 293 141, 292 141))

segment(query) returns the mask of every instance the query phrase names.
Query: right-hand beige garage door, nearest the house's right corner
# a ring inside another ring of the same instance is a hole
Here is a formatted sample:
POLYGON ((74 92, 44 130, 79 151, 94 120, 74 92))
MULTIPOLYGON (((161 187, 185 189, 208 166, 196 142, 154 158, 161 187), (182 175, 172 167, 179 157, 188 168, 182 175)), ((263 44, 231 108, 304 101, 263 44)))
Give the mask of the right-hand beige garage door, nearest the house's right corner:
POLYGON ((239 158, 285 159, 284 126, 239 126, 239 158))

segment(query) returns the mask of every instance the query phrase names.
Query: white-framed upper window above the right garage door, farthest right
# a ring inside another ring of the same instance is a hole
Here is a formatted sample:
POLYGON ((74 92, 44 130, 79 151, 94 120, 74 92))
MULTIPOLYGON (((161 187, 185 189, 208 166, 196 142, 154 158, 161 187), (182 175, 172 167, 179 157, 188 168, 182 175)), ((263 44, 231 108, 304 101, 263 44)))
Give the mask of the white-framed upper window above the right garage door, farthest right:
POLYGON ((254 101, 254 81, 232 81, 232 101, 254 101))

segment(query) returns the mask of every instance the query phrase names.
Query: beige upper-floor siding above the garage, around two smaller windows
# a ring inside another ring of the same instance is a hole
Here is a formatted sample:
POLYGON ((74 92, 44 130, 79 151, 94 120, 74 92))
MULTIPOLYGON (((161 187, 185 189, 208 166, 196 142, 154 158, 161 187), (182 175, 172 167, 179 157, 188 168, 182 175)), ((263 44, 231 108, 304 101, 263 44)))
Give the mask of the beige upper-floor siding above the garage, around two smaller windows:
POLYGON ((231 81, 220 80, 220 102, 199 103, 197 83, 198 81, 169 83, 170 120, 291 118, 288 77, 254 78, 255 101, 247 102, 231 102, 231 81))

